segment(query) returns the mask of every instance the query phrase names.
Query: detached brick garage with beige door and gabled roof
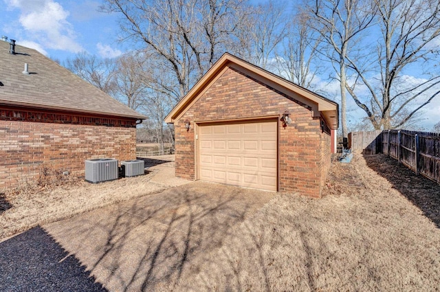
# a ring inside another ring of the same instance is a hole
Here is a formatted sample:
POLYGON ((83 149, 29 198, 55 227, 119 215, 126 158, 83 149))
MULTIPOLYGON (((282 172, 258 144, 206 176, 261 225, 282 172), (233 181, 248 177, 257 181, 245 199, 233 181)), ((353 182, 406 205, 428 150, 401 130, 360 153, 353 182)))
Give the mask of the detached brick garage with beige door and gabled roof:
POLYGON ((320 197, 338 104, 224 54, 165 122, 177 177, 320 197))

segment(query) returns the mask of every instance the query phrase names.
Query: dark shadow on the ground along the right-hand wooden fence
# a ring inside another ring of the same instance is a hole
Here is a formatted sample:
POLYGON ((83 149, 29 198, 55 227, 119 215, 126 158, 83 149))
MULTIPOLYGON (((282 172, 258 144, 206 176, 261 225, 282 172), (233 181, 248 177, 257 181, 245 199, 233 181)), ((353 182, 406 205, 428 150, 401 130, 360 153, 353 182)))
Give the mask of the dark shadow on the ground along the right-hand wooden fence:
POLYGON ((367 166, 419 207, 440 228, 440 186, 386 155, 364 155, 367 166))

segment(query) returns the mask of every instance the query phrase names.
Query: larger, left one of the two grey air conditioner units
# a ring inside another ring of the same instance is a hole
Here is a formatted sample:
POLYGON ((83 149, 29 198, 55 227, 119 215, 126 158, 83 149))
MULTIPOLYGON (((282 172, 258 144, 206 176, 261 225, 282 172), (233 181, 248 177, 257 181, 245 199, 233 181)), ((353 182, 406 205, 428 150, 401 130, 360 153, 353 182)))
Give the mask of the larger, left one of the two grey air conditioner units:
POLYGON ((89 183, 118 179, 118 159, 101 158, 85 161, 85 180, 89 183))

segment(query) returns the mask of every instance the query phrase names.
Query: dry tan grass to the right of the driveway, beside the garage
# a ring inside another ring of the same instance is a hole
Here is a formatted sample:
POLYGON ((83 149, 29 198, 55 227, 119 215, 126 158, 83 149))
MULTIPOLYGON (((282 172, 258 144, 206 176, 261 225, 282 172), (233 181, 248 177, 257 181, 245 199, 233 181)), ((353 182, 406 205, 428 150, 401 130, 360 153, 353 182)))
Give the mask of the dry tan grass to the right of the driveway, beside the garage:
POLYGON ((436 225, 359 155, 331 175, 323 199, 276 196, 175 290, 438 291, 436 225))

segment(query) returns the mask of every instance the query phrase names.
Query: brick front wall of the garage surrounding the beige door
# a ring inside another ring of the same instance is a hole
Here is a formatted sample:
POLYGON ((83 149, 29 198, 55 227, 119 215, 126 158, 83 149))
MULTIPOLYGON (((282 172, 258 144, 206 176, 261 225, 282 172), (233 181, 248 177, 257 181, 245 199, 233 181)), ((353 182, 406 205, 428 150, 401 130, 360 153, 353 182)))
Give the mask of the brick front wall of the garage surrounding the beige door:
POLYGON ((321 168, 327 168, 323 162, 327 155, 322 154, 327 134, 322 134, 320 118, 312 117, 309 106, 232 68, 175 122, 176 175, 195 179, 194 121, 274 116, 286 110, 291 113, 292 124, 283 128, 278 123, 279 191, 320 197, 328 170, 321 168), (185 120, 192 123, 190 131, 186 131, 185 120))

